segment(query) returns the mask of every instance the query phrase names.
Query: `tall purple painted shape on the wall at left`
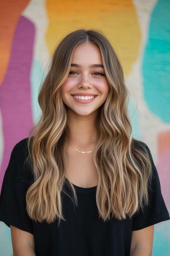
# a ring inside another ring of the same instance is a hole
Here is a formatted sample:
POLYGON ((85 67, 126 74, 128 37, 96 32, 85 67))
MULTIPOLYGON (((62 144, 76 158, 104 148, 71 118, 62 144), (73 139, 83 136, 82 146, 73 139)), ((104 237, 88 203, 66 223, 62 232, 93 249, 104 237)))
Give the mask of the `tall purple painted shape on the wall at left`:
POLYGON ((28 137, 33 126, 30 72, 34 34, 34 24, 26 17, 20 16, 14 34, 8 69, 0 87, 0 108, 4 135, 0 189, 12 148, 17 142, 28 137))

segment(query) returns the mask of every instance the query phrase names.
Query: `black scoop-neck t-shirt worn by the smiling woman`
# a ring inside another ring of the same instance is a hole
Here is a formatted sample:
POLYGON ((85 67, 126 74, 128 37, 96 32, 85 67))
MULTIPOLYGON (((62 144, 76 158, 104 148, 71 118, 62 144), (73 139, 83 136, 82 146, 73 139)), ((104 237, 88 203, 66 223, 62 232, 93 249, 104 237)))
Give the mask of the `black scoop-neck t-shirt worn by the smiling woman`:
MULTIPOLYGON (((133 218, 119 221, 112 218, 104 221, 98 218, 96 186, 82 188, 74 185, 78 207, 62 191, 62 209, 66 221, 52 224, 46 221, 32 221, 26 211, 26 191, 33 181, 31 171, 23 163, 27 154, 25 138, 18 142, 12 152, 6 169, 0 195, 0 221, 8 227, 13 225, 34 235, 36 256, 129 256, 131 234, 161 221, 170 215, 161 195, 161 187, 152 156, 152 183, 149 189, 150 204, 144 213, 139 210, 133 218)), ((64 189, 70 193, 67 183, 64 189)), ((70 194, 71 195, 71 194, 70 194)))

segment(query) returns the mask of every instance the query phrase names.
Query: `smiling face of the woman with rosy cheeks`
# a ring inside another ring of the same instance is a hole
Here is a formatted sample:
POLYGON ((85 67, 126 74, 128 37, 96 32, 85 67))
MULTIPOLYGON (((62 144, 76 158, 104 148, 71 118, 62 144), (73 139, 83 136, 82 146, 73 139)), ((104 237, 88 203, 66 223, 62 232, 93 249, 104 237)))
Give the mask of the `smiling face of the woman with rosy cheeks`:
POLYGON ((99 47, 92 43, 79 44, 73 53, 69 75, 61 88, 62 100, 68 111, 81 116, 97 113, 108 96, 108 90, 99 47), (92 66, 94 64, 96 66, 92 66), (85 98, 80 98, 83 94, 85 98), (91 94, 93 99, 89 99, 91 94))

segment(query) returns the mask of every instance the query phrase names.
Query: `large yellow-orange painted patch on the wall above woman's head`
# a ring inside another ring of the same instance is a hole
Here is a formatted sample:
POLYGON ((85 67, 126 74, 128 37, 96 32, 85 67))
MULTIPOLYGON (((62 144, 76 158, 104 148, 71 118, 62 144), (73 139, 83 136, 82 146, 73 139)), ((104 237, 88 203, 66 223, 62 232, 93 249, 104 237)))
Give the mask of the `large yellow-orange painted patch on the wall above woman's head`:
POLYGON ((131 0, 47 0, 45 40, 51 54, 59 41, 76 29, 98 29, 111 42, 125 75, 138 58, 141 31, 131 0))

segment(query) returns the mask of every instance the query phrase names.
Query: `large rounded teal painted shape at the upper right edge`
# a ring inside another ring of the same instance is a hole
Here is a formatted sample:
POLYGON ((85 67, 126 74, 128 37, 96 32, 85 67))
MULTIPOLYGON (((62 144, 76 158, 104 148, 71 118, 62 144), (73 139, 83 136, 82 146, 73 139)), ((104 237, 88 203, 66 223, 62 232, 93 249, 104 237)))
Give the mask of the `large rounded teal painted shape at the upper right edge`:
POLYGON ((161 121, 170 123, 170 1, 159 0, 150 16, 142 61, 144 100, 161 121))

